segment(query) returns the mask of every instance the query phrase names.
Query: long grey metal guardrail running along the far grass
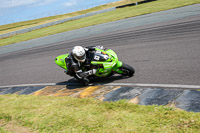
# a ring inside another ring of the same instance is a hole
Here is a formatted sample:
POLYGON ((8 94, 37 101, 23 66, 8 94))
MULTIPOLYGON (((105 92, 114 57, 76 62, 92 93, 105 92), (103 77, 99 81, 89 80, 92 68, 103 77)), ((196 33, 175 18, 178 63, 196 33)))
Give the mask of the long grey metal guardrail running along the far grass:
POLYGON ((30 32, 30 31, 41 29, 41 28, 44 28, 44 27, 48 27, 48 26, 52 26, 52 25, 56 25, 56 24, 61 24, 61 23, 67 22, 67 21, 81 19, 81 18, 84 18, 84 17, 89 17, 89 16, 109 12, 109 11, 112 11, 112 10, 115 10, 115 9, 116 9, 115 7, 108 8, 108 9, 95 11, 95 12, 91 12, 91 13, 87 13, 87 14, 83 14, 83 15, 79 15, 79 16, 75 16, 75 17, 71 17, 71 18, 65 18, 65 19, 62 19, 62 20, 58 20, 58 21, 54 21, 54 22, 50 22, 50 23, 46 23, 46 24, 42 24, 42 25, 30 27, 30 28, 26 28, 26 29, 22 29, 22 30, 18 30, 18 31, 9 32, 9 33, 0 35, 0 38, 6 38, 6 37, 14 36, 14 35, 17 35, 17 34, 30 32))

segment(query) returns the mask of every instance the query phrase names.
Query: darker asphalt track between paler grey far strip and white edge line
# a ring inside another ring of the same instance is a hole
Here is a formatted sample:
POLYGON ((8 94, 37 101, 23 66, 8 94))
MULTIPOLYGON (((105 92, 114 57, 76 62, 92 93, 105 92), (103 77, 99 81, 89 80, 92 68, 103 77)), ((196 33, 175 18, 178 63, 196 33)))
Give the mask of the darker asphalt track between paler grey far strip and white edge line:
POLYGON ((54 59, 73 46, 103 45, 133 66, 135 76, 103 83, 200 85, 200 15, 102 33, 0 55, 0 86, 75 82, 54 59))

